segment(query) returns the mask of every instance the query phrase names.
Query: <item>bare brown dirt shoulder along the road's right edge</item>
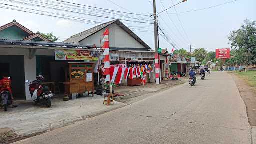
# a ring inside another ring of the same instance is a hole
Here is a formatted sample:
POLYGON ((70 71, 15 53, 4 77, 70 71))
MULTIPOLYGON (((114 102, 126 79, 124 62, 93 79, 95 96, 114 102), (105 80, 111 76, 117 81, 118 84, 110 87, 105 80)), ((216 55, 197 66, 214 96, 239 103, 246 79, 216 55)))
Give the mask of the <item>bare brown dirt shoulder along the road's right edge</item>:
POLYGON ((230 73, 239 89, 240 95, 246 105, 248 121, 251 126, 256 126, 256 90, 249 86, 243 79, 230 73))

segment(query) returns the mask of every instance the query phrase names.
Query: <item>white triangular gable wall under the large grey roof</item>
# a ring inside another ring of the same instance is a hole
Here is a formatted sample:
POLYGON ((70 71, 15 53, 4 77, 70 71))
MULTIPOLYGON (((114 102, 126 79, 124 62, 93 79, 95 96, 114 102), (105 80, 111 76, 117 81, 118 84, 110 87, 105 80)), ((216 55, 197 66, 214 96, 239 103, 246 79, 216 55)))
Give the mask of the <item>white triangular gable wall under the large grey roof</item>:
MULTIPOLYGON (((124 31, 117 24, 115 23, 111 24, 106 28, 109 28, 110 47, 145 48, 142 44, 136 41, 132 36, 130 36, 126 31, 124 31)), ((100 41, 102 41, 102 38, 103 38, 102 34, 106 28, 87 37, 86 39, 82 40, 80 43, 99 45, 100 41), (101 40, 100 40, 100 37, 101 37, 101 40)), ((102 42, 101 42, 101 45, 102 45, 102 42)))

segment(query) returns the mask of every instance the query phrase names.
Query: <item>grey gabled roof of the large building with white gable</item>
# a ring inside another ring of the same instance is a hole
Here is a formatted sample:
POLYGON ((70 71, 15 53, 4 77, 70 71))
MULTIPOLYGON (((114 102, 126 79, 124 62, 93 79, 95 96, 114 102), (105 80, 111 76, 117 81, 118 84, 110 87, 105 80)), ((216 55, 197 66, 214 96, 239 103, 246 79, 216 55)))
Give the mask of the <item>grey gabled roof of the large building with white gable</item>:
POLYGON ((108 25, 111 25, 113 23, 115 23, 118 26, 120 26, 124 31, 126 31, 130 36, 132 36, 135 40, 137 40, 144 47, 146 47, 147 49, 151 49, 142 39, 140 39, 134 32, 132 32, 127 26, 125 26, 119 19, 112 20, 112 21, 109 21, 109 22, 97 25, 97 26, 95 26, 93 28, 90 28, 88 30, 85 30, 85 31, 83 31, 81 33, 75 34, 75 35, 71 36, 70 38, 64 40, 63 42, 66 42, 66 43, 79 43, 83 39, 89 37, 90 35, 95 34, 96 32, 100 31, 101 29, 103 29, 103 28, 105 28, 108 25))

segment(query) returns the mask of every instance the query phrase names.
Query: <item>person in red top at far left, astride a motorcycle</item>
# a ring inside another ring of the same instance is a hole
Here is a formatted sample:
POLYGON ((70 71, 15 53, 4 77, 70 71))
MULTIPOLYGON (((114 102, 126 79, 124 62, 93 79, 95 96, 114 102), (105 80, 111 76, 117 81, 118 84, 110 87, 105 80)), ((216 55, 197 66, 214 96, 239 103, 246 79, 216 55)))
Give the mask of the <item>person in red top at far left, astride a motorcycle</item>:
POLYGON ((2 91, 3 89, 7 89, 9 91, 9 96, 10 98, 8 98, 9 100, 9 105, 12 107, 17 107, 17 105, 14 105, 14 98, 12 95, 12 91, 11 91, 11 80, 9 77, 7 76, 3 76, 3 79, 0 80, 0 91, 2 91))

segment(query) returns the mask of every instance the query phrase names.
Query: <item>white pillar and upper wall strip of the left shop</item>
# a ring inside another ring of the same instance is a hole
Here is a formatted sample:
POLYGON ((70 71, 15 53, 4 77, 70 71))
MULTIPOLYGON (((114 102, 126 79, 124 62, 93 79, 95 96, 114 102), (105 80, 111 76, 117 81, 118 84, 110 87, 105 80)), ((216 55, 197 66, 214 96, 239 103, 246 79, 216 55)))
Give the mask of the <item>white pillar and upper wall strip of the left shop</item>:
MULTIPOLYGON (((36 80, 36 58, 29 59, 29 50, 24 48, 0 48, 0 55, 23 55, 24 56, 24 69, 25 80, 36 80)), ((35 55, 48 55, 54 56, 54 50, 38 49, 35 55)), ((25 81, 24 81, 25 83, 25 81)), ((28 89, 28 84, 25 83, 26 100, 31 100, 31 95, 28 89)))

